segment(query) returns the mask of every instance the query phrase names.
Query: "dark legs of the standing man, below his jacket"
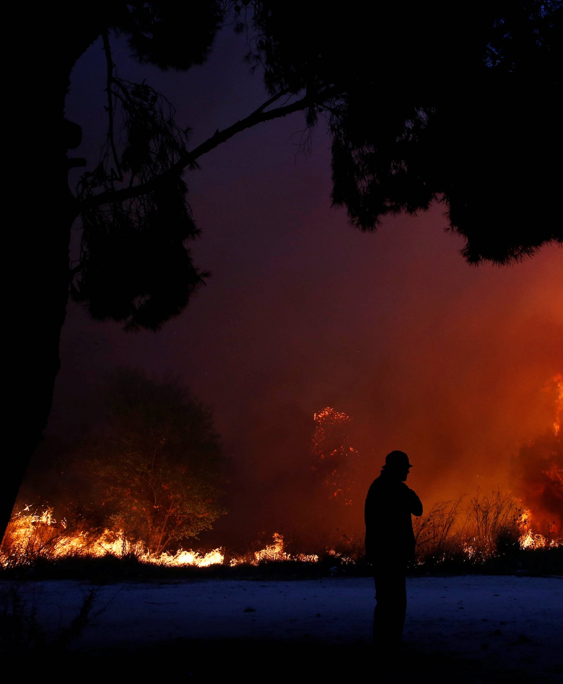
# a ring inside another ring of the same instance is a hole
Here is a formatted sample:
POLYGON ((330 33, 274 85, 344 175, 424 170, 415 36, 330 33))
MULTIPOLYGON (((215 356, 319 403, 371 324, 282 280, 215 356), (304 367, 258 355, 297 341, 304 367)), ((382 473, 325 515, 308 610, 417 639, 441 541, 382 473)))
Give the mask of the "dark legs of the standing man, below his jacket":
POLYGON ((374 645, 400 644, 406 613, 404 568, 376 570, 376 607, 374 609, 374 645))

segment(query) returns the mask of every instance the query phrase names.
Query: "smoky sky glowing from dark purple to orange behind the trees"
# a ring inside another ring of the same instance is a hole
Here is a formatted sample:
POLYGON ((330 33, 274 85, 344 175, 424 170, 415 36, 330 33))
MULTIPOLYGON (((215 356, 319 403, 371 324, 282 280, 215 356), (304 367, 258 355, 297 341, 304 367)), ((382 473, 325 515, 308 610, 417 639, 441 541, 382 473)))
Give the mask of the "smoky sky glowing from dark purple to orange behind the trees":
MULTIPOLYGON (((179 124, 194 129, 193 146, 267 98, 242 60, 245 38, 230 29, 187 73, 139 66, 116 40, 112 49, 120 76, 146 78, 170 99, 179 124)), ((92 166, 104 142, 104 88, 96 42, 66 107, 83 127, 75 155, 92 166)), ((362 234, 330 207, 326 125, 307 155, 304 127, 299 113, 262 124, 186 172, 202 230, 192 253, 213 275, 181 316, 157 333, 126 334, 69 304, 62 331, 48 432, 72 438, 94 421, 96 388, 116 365, 178 376, 213 406, 237 469, 241 497, 229 495, 222 534, 290 525, 304 510, 296 473, 308 467, 313 413, 324 406, 352 417, 362 503, 391 449, 409 454, 408 484, 426 503, 508 486, 511 456, 553 423, 542 388, 563 365, 563 252, 469 267, 442 205, 362 234)), ((354 524, 361 515, 356 505, 354 524)))

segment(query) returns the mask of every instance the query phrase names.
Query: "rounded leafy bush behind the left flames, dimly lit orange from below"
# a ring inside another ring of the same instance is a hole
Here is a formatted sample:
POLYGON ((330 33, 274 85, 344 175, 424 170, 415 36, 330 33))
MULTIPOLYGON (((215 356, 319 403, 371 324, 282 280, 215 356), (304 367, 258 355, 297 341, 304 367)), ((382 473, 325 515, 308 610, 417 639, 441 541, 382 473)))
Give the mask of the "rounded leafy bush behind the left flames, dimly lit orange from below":
POLYGON ((209 407, 174 382, 122 369, 106 391, 107 420, 77 448, 112 527, 160 555, 224 513, 223 464, 209 407))

